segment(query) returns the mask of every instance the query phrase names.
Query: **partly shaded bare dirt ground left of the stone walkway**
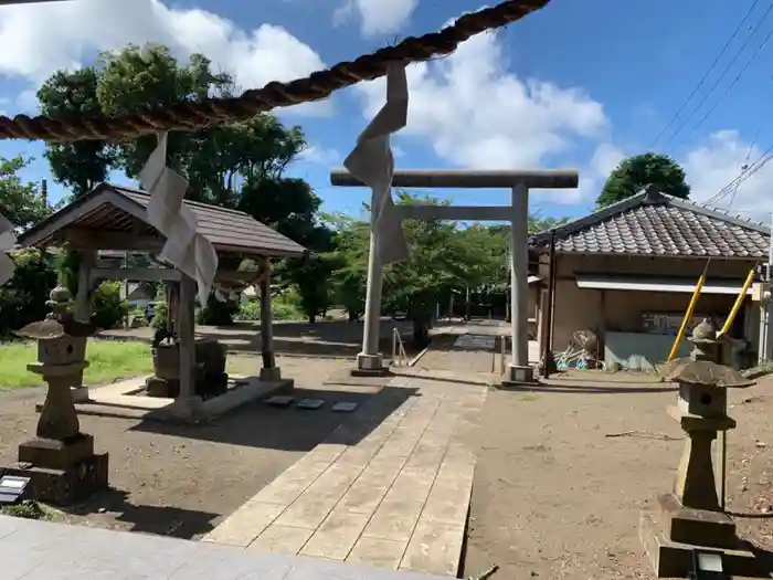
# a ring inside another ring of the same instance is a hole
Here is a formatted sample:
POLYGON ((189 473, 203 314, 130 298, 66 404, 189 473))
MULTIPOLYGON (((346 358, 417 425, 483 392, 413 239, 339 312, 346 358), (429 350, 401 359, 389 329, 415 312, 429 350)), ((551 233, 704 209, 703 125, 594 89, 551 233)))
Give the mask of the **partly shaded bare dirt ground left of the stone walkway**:
MULTIPOLYGON (((252 357, 243 366, 260 368, 252 357)), ((368 404, 378 387, 324 384, 348 359, 279 358, 298 397, 368 404)), ((241 370, 241 369, 240 369, 241 370)), ((247 371, 248 369, 244 368, 247 371)), ((43 389, 0 392, 0 466, 13 464, 18 444, 34 434, 43 389)), ((329 405, 328 405, 329 407, 329 405)), ((346 416, 329 410, 246 405, 207 426, 81 416, 83 431, 110 454, 113 491, 72 510, 68 521, 183 538, 212 529, 263 486, 325 439, 346 416)))

